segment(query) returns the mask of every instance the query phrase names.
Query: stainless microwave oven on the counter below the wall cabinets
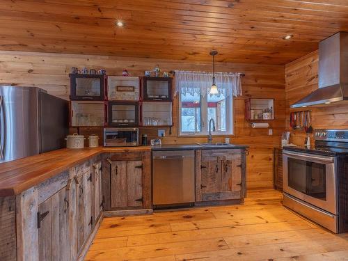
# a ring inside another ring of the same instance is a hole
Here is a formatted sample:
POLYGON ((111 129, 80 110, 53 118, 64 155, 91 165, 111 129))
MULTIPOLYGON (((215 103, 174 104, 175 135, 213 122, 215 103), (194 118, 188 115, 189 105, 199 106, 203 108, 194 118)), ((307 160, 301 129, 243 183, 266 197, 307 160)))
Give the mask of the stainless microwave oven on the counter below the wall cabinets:
POLYGON ((105 147, 127 147, 138 145, 138 128, 104 128, 105 147))

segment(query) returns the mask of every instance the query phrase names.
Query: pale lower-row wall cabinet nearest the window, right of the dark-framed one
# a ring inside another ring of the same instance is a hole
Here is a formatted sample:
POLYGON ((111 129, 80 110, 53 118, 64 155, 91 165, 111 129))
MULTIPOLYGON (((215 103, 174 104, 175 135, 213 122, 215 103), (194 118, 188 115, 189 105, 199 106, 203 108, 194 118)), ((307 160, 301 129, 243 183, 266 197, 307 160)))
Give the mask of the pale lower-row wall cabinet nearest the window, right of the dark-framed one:
POLYGON ((171 126, 172 103, 171 102, 143 102, 143 126, 171 126))

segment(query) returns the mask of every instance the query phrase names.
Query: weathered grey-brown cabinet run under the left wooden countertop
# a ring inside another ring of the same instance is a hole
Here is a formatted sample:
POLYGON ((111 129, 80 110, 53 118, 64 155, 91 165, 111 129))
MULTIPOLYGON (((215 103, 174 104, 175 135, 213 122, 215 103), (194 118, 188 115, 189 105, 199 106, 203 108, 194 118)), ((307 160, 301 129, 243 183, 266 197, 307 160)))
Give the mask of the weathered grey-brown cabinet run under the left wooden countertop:
POLYGON ((102 216, 101 175, 102 158, 95 157, 22 192, 16 206, 13 198, 1 198, 1 209, 8 207, 1 214, 12 216, 12 225, 8 239, 0 240, 11 246, 3 253, 0 245, 0 260, 83 260, 102 216))

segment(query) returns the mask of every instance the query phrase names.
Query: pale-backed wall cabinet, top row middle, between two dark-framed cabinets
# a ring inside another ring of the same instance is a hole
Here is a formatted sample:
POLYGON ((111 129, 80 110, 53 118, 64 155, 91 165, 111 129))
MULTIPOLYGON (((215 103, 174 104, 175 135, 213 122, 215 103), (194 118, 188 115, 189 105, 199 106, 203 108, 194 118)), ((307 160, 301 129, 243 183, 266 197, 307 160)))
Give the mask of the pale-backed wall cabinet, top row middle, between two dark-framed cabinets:
POLYGON ((139 77, 108 76, 108 100, 139 101, 139 77))

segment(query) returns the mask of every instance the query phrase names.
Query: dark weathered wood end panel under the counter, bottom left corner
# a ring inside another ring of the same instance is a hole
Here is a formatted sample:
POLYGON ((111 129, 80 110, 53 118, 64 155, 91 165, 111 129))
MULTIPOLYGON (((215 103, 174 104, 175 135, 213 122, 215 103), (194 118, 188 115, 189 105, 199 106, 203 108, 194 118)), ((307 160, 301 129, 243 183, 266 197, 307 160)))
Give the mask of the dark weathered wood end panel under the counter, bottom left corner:
POLYGON ((17 260, 15 197, 0 197, 0 260, 17 260))

